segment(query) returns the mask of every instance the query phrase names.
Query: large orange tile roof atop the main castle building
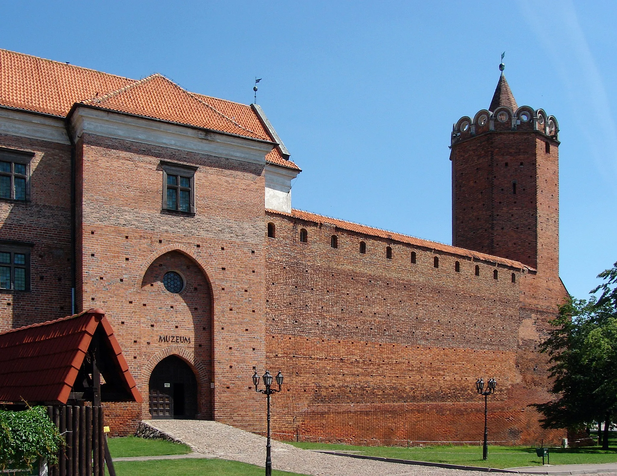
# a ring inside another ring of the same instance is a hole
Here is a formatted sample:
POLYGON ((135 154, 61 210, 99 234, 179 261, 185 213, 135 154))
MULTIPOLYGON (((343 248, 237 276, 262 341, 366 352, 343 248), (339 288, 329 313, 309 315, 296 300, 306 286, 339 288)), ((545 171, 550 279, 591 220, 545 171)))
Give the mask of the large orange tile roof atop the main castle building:
MULTIPOLYGON (((273 141, 251 106, 191 93, 160 74, 138 81, 0 49, 0 106, 66 117, 75 103, 273 141)), ((267 161, 298 169, 280 151, 267 161)))

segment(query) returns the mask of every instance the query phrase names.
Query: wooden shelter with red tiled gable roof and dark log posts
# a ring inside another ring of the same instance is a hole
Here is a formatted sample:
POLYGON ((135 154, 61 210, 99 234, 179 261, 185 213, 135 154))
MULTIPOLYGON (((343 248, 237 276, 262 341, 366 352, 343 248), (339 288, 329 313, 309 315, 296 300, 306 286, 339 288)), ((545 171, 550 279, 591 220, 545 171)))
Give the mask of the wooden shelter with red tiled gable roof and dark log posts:
POLYGON ((104 461, 115 476, 101 403, 120 401, 142 398, 101 309, 0 333, 0 402, 47 405, 65 437, 50 476, 104 476, 104 461))

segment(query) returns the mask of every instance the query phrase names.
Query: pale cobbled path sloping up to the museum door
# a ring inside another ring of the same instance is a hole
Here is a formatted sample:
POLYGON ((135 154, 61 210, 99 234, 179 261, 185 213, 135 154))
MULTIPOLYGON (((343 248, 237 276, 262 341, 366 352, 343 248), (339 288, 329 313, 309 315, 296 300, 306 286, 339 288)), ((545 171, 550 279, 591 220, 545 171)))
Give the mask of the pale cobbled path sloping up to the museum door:
MULTIPOLYGON (((266 438, 218 422, 203 420, 148 420, 144 422, 161 432, 178 438, 194 451, 213 454, 223 459, 263 466, 266 459, 266 438)), ((272 466, 275 469, 315 476, 512 476, 507 473, 486 473, 443 469, 430 466, 355 459, 345 456, 315 453, 280 441, 272 441, 272 466)))

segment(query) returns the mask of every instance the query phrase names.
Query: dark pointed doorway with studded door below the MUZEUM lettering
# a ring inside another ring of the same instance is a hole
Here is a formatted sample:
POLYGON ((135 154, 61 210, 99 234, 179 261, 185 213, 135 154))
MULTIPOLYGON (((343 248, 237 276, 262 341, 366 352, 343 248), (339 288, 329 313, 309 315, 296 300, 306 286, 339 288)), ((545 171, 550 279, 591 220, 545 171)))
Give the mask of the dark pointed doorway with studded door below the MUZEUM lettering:
POLYGON ((150 414, 153 419, 191 419, 197 414, 197 379, 180 357, 160 361, 149 381, 150 414))

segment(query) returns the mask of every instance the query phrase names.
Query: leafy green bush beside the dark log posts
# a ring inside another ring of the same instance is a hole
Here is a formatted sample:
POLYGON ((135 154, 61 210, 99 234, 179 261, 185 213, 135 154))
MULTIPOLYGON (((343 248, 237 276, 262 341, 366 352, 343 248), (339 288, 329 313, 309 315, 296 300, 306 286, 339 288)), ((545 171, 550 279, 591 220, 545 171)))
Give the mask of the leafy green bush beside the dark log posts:
POLYGON ((57 462, 64 438, 49 419, 45 407, 22 412, 0 410, 0 469, 31 469, 39 458, 57 462))

